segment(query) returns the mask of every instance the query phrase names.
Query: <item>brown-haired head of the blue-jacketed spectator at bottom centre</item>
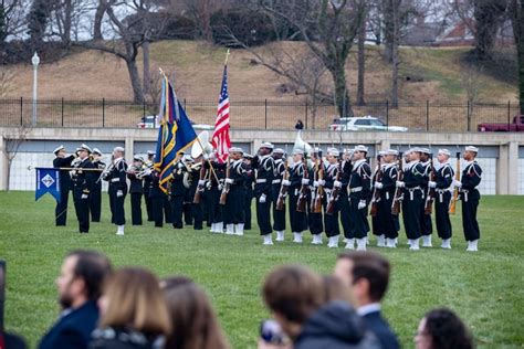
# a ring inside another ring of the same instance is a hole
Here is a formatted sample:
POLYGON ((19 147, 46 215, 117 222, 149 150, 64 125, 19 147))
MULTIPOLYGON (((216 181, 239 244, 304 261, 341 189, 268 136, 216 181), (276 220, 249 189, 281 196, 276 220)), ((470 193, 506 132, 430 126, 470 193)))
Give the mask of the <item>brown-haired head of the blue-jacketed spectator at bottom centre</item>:
POLYGON ((271 272, 262 293, 271 310, 298 325, 325 304, 326 297, 322 277, 302 265, 281 266, 271 272))

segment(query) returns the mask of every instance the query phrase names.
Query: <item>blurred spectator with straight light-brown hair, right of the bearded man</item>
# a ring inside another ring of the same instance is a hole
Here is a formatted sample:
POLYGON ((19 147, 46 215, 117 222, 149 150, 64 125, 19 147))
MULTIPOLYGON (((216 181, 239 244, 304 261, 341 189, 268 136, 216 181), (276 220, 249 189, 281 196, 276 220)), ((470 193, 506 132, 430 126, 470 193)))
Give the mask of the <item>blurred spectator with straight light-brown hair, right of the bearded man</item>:
POLYGON ((170 332, 166 302, 155 275, 143 268, 122 268, 104 287, 99 328, 92 349, 163 348, 170 332))

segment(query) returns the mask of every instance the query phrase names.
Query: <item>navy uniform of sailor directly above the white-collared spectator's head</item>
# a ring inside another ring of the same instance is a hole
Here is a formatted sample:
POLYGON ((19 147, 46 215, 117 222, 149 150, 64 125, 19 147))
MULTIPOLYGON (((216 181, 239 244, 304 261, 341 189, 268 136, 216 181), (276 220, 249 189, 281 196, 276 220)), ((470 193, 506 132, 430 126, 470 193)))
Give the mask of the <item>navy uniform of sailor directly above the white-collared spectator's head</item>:
POLYGON ((352 237, 364 239, 369 232, 367 221, 367 204, 370 197, 371 168, 366 159, 357 160, 353 163, 352 177, 347 191, 349 192, 349 220, 354 233, 352 237), (365 204, 364 208, 359 208, 365 204))

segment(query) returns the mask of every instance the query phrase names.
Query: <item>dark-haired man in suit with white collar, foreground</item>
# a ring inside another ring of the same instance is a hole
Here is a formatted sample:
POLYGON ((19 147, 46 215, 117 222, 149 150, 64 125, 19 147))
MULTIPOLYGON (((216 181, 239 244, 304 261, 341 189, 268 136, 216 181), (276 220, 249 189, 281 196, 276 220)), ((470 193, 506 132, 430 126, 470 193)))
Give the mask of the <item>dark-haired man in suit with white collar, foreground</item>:
POLYGON ((399 348, 397 337, 382 318, 380 302, 389 283, 389 262, 371 252, 343 253, 335 265, 337 276, 352 290, 357 313, 382 348, 399 348))

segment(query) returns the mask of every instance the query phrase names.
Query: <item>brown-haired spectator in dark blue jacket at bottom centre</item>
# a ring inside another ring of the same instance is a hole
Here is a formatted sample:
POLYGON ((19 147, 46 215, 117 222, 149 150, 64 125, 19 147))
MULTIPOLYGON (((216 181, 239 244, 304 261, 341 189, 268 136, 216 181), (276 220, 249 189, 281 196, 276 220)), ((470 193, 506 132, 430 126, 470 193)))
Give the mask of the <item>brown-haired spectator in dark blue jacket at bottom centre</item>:
POLYGON ((347 302, 326 299, 322 277, 304 266, 282 266, 268 275, 263 298, 294 349, 380 348, 347 302))

